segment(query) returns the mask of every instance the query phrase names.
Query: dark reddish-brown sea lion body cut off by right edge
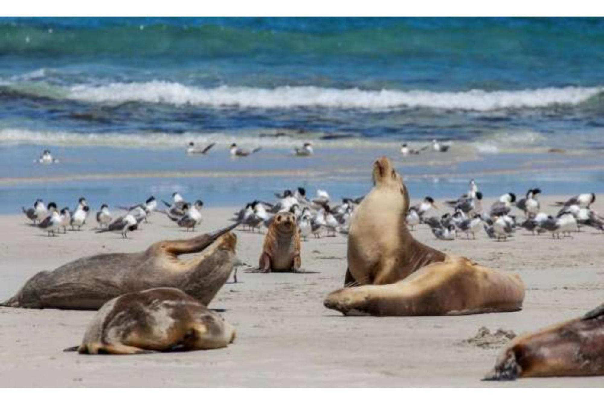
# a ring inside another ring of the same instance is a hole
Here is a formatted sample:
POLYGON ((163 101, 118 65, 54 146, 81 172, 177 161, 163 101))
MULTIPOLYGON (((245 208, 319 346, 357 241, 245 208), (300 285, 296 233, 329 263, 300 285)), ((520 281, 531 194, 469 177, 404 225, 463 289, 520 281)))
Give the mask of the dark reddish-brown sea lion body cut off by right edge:
POLYGON ((581 318, 516 337, 484 380, 604 375, 604 304, 581 318))

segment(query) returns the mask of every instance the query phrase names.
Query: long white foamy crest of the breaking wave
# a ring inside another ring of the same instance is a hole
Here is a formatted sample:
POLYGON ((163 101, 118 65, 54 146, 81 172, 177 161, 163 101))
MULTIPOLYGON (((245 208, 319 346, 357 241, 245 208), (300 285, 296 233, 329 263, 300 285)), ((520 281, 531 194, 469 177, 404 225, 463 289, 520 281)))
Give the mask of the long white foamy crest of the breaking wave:
POLYGON ((507 108, 542 108, 577 105, 602 92, 604 87, 547 87, 532 90, 427 90, 333 89, 315 86, 202 87, 168 81, 113 83, 106 86, 73 86, 68 98, 85 102, 121 104, 150 102, 237 108, 340 108, 389 110, 393 108, 438 108, 444 110, 493 111, 507 108))

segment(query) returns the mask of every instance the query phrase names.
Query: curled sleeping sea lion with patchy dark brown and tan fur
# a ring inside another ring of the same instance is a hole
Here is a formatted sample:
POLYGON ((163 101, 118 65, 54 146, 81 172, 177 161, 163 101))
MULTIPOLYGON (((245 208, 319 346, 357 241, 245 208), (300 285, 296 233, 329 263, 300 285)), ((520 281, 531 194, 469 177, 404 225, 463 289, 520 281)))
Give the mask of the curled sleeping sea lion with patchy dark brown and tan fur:
MULTIPOLYGON (((80 354, 142 354, 226 347, 235 329, 176 288, 129 292, 105 303, 88 325, 80 354)), ((69 348, 66 351, 76 350, 69 348)))

